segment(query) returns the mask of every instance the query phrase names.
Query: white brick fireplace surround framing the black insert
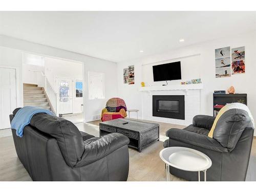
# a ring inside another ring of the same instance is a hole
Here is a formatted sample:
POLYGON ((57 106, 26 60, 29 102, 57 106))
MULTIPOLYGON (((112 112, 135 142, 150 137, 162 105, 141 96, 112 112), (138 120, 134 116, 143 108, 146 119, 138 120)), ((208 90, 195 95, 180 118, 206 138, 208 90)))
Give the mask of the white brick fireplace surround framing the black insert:
MULTIPOLYGON (((191 85, 194 86, 194 85, 191 85)), ((195 85, 196 86, 196 85, 195 85)), ((167 86, 166 86, 167 87, 167 86)), ((147 88, 145 88, 147 89, 147 88)), ((165 88, 166 89, 166 88, 165 88)), ((142 119, 160 121, 166 123, 174 123, 180 125, 189 125, 193 121, 195 115, 201 114, 201 89, 188 90, 140 90, 142 91, 142 119), (172 119, 164 117, 154 117, 152 96, 153 95, 184 95, 185 99, 185 120, 172 119)))

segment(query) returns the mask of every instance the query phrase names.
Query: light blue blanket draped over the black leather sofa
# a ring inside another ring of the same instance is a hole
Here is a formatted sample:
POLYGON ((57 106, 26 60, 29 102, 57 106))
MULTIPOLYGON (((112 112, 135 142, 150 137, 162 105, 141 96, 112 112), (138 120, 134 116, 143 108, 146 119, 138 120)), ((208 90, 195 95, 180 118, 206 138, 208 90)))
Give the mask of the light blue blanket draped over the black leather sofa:
POLYGON ((37 113, 46 113, 55 116, 51 111, 38 108, 37 106, 24 106, 24 108, 18 110, 11 123, 11 127, 16 130, 17 136, 23 136, 24 127, 30 123, 32 116, 37 113))

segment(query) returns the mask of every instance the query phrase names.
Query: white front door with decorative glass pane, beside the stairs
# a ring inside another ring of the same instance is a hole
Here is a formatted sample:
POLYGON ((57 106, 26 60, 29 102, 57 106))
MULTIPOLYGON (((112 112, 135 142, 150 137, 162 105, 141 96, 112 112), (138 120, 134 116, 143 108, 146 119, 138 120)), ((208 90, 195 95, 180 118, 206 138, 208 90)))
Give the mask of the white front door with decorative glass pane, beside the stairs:
POLYGON ((69 114, 73 113, 73 80, 70 78, 55 79, 57 93, 57 113, 69 114))

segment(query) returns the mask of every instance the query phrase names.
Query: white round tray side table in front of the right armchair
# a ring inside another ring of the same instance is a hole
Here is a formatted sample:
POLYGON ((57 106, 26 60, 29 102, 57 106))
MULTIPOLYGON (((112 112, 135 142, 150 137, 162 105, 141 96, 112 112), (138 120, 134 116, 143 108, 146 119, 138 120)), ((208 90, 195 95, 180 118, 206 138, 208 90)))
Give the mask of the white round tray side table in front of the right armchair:
POLYGON ((198 172, 198 181, 200 181, 200 172, 204 172, 204 181, 206 181, 206 170, 211 166, 210 158, 187 147, 167 147, 159 153, 160 158, 165 162, 166 180, 170 180, 170 166, 186 170, 188 172, 198 172))

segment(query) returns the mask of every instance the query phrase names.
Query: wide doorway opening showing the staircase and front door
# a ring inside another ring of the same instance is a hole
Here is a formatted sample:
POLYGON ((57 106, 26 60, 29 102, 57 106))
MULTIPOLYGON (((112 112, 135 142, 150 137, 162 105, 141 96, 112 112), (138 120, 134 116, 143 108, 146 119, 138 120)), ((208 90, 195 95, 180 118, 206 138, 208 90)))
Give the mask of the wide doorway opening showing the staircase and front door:
POLYGON ((83 122, 83 63, 23 54, 24 105, 39 106, 73 123, 83 122))

